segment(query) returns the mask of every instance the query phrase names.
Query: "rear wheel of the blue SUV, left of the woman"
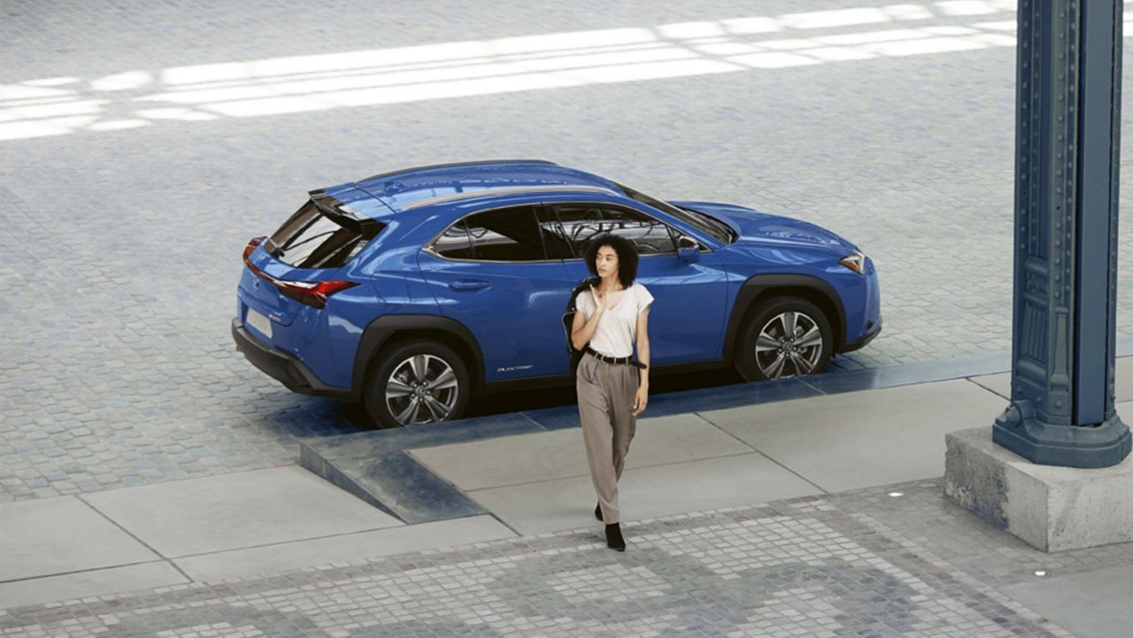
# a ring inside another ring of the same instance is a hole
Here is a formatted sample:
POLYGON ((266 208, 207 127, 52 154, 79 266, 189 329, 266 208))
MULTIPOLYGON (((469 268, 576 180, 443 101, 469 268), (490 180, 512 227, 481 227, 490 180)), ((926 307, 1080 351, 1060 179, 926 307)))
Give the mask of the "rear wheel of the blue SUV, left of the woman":
POLYGON ((378 427, 424 425, 460 418, 470 391, 463 359, 444 343, 419 339, 377 354, 363 403, 378 427))

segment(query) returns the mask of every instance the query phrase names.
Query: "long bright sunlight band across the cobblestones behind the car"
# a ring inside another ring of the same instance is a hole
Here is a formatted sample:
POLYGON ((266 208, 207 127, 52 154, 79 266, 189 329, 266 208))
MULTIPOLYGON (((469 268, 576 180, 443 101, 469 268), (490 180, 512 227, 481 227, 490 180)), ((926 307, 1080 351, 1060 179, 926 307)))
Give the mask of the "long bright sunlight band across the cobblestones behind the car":
POLYGON ((1014 46, 1014 19, 995 19, 1014 8, 946 0, 32 79, 0 85, 0 141, 1014 46), (932 24, 957 16, 978 22, 932 24))

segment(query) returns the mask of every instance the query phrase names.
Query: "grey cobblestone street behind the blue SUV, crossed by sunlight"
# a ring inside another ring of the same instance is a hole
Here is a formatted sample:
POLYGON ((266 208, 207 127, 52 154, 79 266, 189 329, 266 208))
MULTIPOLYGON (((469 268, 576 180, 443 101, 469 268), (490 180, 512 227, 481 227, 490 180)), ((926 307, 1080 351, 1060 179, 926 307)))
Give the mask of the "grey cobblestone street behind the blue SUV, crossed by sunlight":
POLYGON ((1013 6, 7 0, 0 501, 355 431, 233 351, 239 255, 308 189, 404 165, 547 158, 796 215, 879 264, 885 332, 841 366, 1006 351, 1013 6))

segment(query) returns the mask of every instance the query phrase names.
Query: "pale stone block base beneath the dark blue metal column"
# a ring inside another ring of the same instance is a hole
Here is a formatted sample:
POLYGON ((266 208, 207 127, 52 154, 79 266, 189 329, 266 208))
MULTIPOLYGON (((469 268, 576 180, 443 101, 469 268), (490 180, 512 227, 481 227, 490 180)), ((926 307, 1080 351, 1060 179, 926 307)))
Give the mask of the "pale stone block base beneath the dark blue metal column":
POLYGON ((1133 541, 1133 456, 1100 469, 1034 465, 991 441, 990 427, 945 436, 944 492, 1043 552, 1133 541))

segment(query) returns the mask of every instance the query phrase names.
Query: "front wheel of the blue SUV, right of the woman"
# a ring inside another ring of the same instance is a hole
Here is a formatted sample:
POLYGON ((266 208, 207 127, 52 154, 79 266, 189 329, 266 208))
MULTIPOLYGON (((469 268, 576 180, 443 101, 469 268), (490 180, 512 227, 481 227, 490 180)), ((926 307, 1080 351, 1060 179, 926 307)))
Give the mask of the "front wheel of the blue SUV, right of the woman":
POLYGON ((748 313, 735 369, 744 381, 818 374, 826 369, 833 350, 834 332, 818 306, 798 297, 776 297, 758 303, 748 313), (793 338, 785 334, 791 317, 793 338), (820 341, 816 342, 816 337, 820 341))

